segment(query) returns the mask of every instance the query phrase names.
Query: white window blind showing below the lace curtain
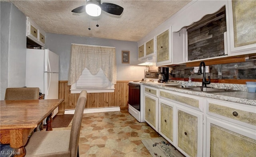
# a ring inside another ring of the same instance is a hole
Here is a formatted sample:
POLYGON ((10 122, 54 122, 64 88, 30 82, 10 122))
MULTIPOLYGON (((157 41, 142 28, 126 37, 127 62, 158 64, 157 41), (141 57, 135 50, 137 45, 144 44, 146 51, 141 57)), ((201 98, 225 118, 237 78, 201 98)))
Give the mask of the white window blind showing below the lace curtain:
POLYGON ((77 89, 97 89, 110 87, 110 81, 101 68, 96 75, 92 75, 87 68, 84 68, 82 75, 76 82, 77 89))

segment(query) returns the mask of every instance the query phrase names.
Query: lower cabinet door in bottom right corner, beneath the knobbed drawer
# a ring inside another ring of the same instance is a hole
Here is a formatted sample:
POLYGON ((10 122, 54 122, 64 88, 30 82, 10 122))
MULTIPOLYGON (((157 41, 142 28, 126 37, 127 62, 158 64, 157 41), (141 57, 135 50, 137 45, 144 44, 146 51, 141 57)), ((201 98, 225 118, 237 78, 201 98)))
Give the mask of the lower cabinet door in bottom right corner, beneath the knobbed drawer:
POLYGON ((255 157, 255 130, 247 130, 214 117, 206 117, 206 120, 206 156, 255 157))

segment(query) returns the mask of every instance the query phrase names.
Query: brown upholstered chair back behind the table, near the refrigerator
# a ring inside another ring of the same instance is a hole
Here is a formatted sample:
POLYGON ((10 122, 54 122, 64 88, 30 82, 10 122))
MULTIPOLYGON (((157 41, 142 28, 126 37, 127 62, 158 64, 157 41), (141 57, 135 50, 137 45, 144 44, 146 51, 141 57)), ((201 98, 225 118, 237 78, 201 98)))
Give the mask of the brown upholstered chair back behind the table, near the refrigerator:
POLYGON ((38 87, 6 88, 4 100, 36 100, 38 97, 38 87))

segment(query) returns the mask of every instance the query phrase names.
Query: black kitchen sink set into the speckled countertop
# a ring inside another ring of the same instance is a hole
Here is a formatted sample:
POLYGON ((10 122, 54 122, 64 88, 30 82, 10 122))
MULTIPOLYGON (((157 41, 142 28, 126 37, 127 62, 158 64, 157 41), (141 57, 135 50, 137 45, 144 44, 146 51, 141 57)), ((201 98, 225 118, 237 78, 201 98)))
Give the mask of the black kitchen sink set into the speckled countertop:
POLYGON ((203 87, 203 86, 183 86, 183 85, 163 85, 168 87, 174 87, 174 88, 181 88, 186 90, 194 90, 198 92, 232 92, 232 91, 238 91, 238 90, 230 90, 230 89, 219 89, 219 88, 212 88, 212 87, 203 87))

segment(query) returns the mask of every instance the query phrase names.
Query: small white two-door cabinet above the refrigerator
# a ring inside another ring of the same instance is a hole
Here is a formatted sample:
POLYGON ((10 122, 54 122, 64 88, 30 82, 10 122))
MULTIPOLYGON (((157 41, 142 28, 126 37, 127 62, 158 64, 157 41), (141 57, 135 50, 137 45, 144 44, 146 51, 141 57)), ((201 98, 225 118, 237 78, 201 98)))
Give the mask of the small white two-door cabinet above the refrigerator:
POLYGON ((39 26, 37 26, 30 18, 27 17, 27 31, 26 35, 32 41, 38 43, 41 46, 45 45, 45 32, 39 26))

